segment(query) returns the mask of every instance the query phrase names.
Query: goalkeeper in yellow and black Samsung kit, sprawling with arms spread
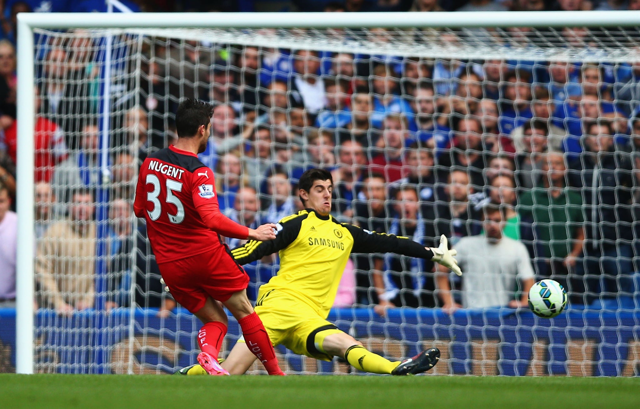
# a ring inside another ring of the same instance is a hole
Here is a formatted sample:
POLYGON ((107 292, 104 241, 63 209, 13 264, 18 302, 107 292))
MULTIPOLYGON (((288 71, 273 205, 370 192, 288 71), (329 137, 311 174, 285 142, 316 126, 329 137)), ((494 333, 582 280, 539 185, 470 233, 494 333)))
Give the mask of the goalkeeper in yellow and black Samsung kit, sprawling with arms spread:
MULTIPOLYGON (((430 259, 461 275, 455 250, 440 238, 437 248, 424 247, 405 237, 378 234, 329 214, 333 179, 328 171, 309 169, 300 177, 300 199, 305 210, 280 220, 276 238, 268 242, 251 240, 232 250, 244 265, 280 252, 280 270, 260 287, 255 312, 264 323, 274 346, 282 344, 300 355, 320 360, 343 357, 360 371, 379 374, 417 374, 431 369, 440 356, 437 348, 424 350, 402 362, 391 362, 366 350, 355 338, 326 321, 349 255, 395 252, 430 259)), ((221 366, 230 374, 243 374, 253 364, 252 346, 241 339, 221 366)), ((192 366, 182 374, 202 373, 192 366)))

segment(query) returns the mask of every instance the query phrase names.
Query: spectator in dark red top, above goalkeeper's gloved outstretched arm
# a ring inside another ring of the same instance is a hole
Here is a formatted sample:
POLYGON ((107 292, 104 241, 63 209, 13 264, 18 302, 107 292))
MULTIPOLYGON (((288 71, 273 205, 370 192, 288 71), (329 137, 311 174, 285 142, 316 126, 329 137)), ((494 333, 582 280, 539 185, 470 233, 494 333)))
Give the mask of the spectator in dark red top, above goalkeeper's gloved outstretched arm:
POLYGON ((382 137, 371 149, 369 169, 382 173, 388 182, 402 178, 404 151, 408 140, 406 118, 402 114, 387 114, 383 123, 382 137))

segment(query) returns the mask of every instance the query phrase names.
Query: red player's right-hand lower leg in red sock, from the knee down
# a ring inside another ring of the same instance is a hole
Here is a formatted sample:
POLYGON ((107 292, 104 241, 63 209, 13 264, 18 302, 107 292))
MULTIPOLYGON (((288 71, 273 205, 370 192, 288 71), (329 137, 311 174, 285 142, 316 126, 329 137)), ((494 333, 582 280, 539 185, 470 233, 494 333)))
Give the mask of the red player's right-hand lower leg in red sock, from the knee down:
POLYGON ((243 289, 232 294, 223 304, 238 320, 246 346, 262 362, 269 375, 284 375, 278 366, 278 359, 269 335, 264 329, 260 317, 253 311, 253 307, 246 297, 246 291, 243 289))

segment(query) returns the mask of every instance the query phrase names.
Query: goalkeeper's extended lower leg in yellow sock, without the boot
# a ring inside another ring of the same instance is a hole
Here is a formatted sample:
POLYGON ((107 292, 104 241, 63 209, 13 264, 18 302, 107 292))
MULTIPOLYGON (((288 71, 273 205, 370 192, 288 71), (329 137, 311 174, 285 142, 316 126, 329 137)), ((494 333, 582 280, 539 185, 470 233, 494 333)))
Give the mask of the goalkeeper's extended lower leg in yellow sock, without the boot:
POLYGON ((324 352, 344 359, 351 366, 360 371, 369 373, 391 374, 400 362, 391 362, 378 355, 368 351, 362 343, 345 332, 330 334, 322 339, 322 332, 316 334, 316 345, 322 347, 324 352))

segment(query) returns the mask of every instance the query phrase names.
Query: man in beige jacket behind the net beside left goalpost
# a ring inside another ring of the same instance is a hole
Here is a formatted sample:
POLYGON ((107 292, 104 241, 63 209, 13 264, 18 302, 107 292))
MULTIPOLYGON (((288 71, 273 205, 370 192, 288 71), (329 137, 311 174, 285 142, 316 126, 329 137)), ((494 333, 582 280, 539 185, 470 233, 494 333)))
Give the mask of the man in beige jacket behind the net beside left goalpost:
POLYGON ((60 314, 93 307, 95 295, 93 195, 76 189, 68 207, 68 219, 52 223, 42 236, 35 260, 40 306, 60 314))

